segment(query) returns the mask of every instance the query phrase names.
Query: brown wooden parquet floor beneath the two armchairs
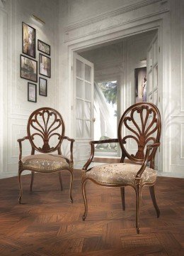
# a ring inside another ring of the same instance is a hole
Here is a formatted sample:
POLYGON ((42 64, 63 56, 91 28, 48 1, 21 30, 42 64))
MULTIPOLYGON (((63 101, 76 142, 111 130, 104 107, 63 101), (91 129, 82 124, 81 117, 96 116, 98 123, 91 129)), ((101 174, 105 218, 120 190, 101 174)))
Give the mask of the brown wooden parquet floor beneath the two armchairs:
POLYGON ((120 190, 87 185, 88 216, 81 220, 84 203, 81 171, 75 171, 74 203, 69 203, 69 174, 64 171, 64 191, 57 174, 36 174, 33 192, 30 176, 23 176, 23 203, 18 204, 17 178, 0 180, 0 255, 184 255, 184 180, 159 177, 156 218, 149 189, 142 193, 141 230, 135 225, 134 191, 126 189, 122 211, 120 190))

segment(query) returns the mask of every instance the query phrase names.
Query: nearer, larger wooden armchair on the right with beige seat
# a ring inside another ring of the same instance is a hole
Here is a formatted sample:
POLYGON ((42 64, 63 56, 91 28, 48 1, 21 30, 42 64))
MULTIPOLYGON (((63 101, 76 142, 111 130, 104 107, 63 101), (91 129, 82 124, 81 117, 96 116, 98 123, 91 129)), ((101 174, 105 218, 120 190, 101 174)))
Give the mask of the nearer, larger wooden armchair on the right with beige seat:
POLYGON ((86 182, 93 181, 100 186, 120 187, 122 196, 122 208, 125 210, 125 186, 134 188, 136 194, 136 229, 140 230, 140 203, 143 186, 149 186, 151 199, 156 210, 157 218, 160 211, 156 203, 154 184, 156 171, 154 159, 156 149, 160 146, 161 117, 158 108, 149 102, 140 102, 129 107, 120 119, 118 126, 118 139, 90 142, 91 156, 83 167, 81 180, 82 194, 84 198, 84 215, 86 219, 88 204, 86 198, 86 182), (124 135, 123 135, 124 134, 124 135), (129 154, 125 148, 131 148, 132 142, 137 144, 137 153, 129 154), (103 164, 89 168, 93 160, 95 144, 119 142, 122 151, 120 163, 103 164), (130 159, 131 164, 124 163, 125 158, 130 159), (147 166, 149 164, 149 166, 147 166))

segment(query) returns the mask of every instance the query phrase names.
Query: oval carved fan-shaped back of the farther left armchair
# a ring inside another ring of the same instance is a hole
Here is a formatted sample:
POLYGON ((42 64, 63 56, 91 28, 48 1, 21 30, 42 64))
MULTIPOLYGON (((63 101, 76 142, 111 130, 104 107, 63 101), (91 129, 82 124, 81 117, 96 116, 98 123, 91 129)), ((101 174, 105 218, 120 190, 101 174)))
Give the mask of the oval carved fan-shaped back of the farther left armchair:
POLYGON ((59 148, 64 137, 64 129, 62 115, 49 107, 35 110, 28 119, 27 132, 30 144, 41 153, 50 153, 59 148))

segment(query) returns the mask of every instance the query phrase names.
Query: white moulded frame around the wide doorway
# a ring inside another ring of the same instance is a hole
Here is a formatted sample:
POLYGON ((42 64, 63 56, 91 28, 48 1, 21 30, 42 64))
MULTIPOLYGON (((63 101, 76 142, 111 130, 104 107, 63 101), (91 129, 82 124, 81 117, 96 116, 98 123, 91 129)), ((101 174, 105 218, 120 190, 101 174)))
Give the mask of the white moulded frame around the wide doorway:
MULTIPOLYGON (((160 78, 160 80, 159 80, 159 86, 160 86, 161 94, 163 92, 165 95, 167 93, 169 93, 166 88, 166 85, 167 86, 170 85, 170 80, 169 80, 168 76, 166 75, 166 74, 168 74, 168 70, 170 68, 170 59, 169 59, 169 55, 167 54, 167 52, 169 50, 169 46, 168 46, 168 43, 162 41, 163 40, 163 26, 166 26, 167 22, 168 22, 168 15, 163 14, 162 18, 161 18, 161 16, 159 18, 157 17, 157 19, 155 21, 146 20, 145 23, 140 23, 137 26, 132 26, 130 28, 126 28, 126 29, 123 29, 120 31, 115 31, 113 33, 109 32, 109 33, 106 33, 105 35, 98 36, 98 37, 95 37, 93 35, 92 38, 89 38, 86 41, 84 41, 83 37, 78 38, 77 40, 74 39, 74 40, 68 41, 65 44, 65 47, 66 47, 65 49, 67 50, 67 57, 68 57, 67 85, 69 87, 69 95, 71 96, 70 100, 69 100, 69 105, 70 105, 69 110, 71 110, 71 112, 69 113, 69 116, 72 116, 72 107, 71 106, 73 105, 73 100, 74 100, 73 99, 73 95, 74 95, 73 94, 73 73, 72 73, 72 68, 71 68, 73 66, 74 51, 81 50, 84 48, 89 48, 91 46, 98 46, 99 44, 107 43, 110 41, 115 41, 120 38, 125 38, 127 36, 135 35, 137 33, 142 33, 142 32, 146 32, 146 31, 158 29, 160 55, 162 56, 160 68, 161 68, 161 72, 164 70, 163 77, 160 78), (164 49, 162 47, 163 43, 164 43, 164 49), (167 63, 167 65, 164 65, 164 67, 163 67, 163 58, 165 60, 165 63, 167 63)), ((166 33, 164 35, 164 38, 165 38, 165 41, 169 40, 169 37, 166 33)), ((167 98, 167 96, 168 95, 166 95, 166 98, 167 98)), ((126 104, 121 104, 120 112, 124 112, 127 107, 128 106, 126 104)), ((168 107, 168 102, 166 102, 166 100, 163 100, 163 102, 160 102, 161 115, 164 112, 164 110, 166 110, 166 107, 168 107)), ((71 124, 70 133, 73 134, 74 127, 72 127, 73 124, 72 124, 71 119, 69 120, 69 124, 71 124)), ((162 127, 163 127, 163 130, 164 130, 164 128, 166 128, 164 123, 163 123, 162 127)), ((168 133, 169 133, 169 131, 168 131, 168 133)), ((161 155, 163 155, 163 161, 161 163, 160 170, 161 171, 170 171, 170 164, 168 161, 169 154, 167 151, 168 144, 170 143, 168 134, 162 133, 161 141, 164 145, 167 145, 167 146, 164 146, 161 148, 161 151, 163 150, 163 152, 161 152, 161 155), (163 169, 163 166, 164 166, 164 169, 163 169)))

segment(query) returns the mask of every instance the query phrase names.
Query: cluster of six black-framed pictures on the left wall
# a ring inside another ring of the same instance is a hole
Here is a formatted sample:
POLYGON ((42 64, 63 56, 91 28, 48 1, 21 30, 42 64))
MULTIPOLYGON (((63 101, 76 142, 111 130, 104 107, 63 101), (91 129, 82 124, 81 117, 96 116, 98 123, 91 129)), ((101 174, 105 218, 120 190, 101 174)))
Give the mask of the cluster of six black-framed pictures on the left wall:
POLYGON ((39 68, 39 95, 47 97, 47 79, 51 78, 51 58, 50 45, 38 39, 39 55, 36 53, 36 29, 26 23, 22 23, 22 53, 20 55, 20 76, 28 82, 28 101, 38 102, 38 86, 33 82, 38 82, 39 68), (36 60, 36 55, 39 59, 36 60))

